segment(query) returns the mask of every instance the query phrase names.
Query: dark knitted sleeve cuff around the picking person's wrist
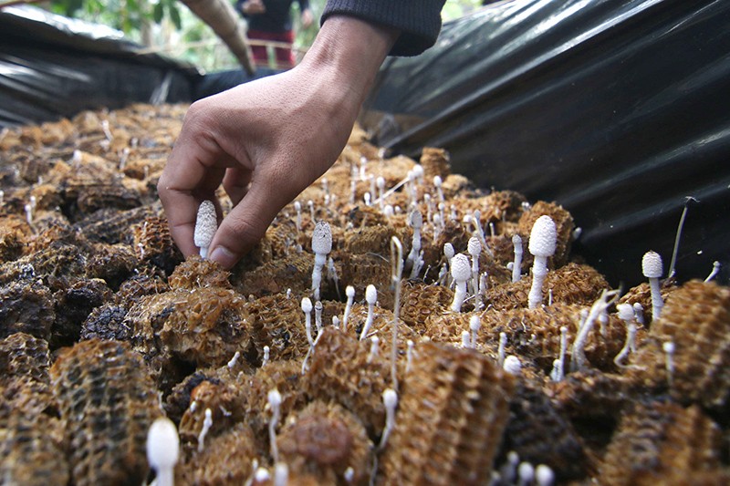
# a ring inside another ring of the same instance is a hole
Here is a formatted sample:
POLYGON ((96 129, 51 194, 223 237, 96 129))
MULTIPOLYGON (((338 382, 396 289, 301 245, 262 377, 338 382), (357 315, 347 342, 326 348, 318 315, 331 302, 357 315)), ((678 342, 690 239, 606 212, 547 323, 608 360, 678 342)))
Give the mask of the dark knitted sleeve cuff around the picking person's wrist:
POLYGON ((445 0, 328 0, 320 23, 329 16, 355 16, 401 30, 391 56, 416 56, 433 46, 441 31, 445 0))

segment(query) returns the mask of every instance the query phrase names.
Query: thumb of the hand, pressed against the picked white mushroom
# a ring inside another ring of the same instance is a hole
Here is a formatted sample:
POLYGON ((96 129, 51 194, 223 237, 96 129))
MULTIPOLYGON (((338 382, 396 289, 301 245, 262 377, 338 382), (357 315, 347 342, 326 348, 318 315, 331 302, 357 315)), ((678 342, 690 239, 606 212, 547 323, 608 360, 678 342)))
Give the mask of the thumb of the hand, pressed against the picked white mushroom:
POLYGON ((230 269, 266 234, 282 206, 252 184, 241 202, 225 216, 211 242, 210 259, 230 269))

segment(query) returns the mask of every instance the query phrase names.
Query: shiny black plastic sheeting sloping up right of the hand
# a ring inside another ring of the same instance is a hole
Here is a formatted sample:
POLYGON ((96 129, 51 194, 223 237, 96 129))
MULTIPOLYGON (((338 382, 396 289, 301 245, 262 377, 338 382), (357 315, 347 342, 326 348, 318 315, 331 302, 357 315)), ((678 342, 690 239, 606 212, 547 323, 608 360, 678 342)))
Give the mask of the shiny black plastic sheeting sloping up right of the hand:
POLYGON ((730 2, 503 2, 382 67, 362 122, 417 157, 449 150, 483 188, 562 204, 574 253, 613 285, 668 271, 730 275, 730 2))

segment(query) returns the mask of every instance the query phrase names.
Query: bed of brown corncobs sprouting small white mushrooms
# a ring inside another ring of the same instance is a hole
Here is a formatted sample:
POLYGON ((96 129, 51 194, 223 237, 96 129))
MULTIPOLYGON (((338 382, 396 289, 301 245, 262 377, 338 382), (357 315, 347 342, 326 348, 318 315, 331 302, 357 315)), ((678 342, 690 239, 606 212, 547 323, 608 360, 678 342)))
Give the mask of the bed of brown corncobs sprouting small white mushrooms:
POLYGON ((232 272, 183 260, 155 188, 186 108, 0 134, 5 483, 151 481, 162 416, 177 484, 730 481, 730 289, 662 280, 652 316, 648 281, 571 257, 559 205, 474 188, 443 150, 383 159, 357 128, 232 272))

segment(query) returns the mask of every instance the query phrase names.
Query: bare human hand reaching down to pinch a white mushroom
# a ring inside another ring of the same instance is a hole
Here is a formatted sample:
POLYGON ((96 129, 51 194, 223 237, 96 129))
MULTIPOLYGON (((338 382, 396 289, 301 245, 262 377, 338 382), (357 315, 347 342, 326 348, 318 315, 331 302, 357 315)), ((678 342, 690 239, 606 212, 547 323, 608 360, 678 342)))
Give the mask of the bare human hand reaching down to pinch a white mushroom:
POLYGON ((172 238, 185 256, 200 202, 223 183, 233 210, 210 246, 232 267, 288 202, 337 160, 398 33, 330 17, 297 67, 195 102, 158 183, 172 238), (344 39, 344 40, 343 40, 344 39))

